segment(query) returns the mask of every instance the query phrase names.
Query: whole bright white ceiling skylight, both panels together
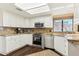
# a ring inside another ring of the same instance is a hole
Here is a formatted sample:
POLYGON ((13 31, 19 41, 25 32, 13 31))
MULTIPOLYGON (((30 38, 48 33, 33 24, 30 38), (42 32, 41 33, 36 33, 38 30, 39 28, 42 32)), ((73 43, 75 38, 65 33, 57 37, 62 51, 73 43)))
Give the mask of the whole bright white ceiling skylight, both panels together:
POLYGON ((46 3, 16 3, 15 5, 30 14, 50 11, 46 3))

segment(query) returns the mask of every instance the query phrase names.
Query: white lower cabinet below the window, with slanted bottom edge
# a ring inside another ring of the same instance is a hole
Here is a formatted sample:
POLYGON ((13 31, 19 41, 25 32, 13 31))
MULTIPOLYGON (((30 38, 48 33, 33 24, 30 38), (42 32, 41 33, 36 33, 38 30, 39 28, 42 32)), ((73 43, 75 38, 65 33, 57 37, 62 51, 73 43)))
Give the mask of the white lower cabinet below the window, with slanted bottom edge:
POLYGON ((54 36, 54 48, 63 55, 68 55, 68 41, 63 36, 54 36))

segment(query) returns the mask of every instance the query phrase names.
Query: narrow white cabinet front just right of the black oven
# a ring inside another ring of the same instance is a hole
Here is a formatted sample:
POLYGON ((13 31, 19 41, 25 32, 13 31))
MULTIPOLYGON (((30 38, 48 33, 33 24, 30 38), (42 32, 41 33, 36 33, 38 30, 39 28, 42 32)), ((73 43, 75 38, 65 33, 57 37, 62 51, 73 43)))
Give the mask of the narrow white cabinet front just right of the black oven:
POLYGON ((54 39, 52 35, 45 35, 45 47, 54 49, 54 39))

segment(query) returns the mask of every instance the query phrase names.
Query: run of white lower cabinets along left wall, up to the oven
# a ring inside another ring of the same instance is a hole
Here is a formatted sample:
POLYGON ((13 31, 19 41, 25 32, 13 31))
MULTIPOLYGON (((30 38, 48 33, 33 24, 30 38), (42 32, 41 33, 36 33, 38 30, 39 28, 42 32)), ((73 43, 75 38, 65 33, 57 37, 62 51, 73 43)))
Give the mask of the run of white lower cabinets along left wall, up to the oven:
POLYGON ((26 44, 32 45, 32 34, 22 34, 6 37, 6 52, 10 53, 26 44))

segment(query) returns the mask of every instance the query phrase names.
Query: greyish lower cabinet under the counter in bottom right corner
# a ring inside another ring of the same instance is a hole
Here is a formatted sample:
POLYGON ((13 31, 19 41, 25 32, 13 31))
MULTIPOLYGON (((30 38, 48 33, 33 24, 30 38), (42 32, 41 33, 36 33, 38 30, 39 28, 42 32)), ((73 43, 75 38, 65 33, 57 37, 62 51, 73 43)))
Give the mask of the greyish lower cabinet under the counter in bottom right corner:
POLYGON ((68 42, 68 56, 79 56, 79 41, 68 42))

